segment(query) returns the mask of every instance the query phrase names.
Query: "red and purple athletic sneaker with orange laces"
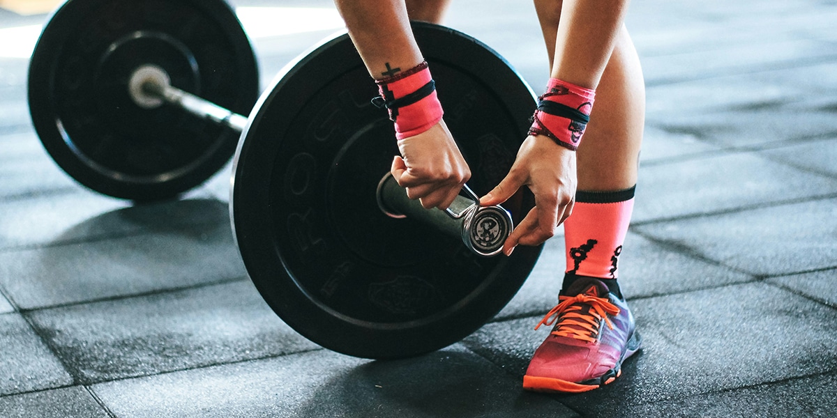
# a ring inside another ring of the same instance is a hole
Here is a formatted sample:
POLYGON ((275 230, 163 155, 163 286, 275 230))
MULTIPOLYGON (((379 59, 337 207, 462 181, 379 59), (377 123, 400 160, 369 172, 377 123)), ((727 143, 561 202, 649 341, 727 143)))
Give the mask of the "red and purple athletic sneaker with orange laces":
POLYGON ((579 277, 541 319, 552 333, 532 356, 523 388, 584 392, 614 381, 640 345, 628 304, 596 278, 579 277))

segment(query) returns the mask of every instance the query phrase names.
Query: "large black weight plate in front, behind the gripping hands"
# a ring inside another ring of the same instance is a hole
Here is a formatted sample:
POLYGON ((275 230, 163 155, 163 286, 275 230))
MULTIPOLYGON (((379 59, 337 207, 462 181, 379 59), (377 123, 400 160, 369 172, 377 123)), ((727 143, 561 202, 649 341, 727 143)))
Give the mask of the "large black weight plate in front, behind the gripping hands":
MULTIPOLYGON (((445 121, 485 193, 506 175, 535 108, 531 89, 474 38, 413 30, 445 121)), ((343 354, 406 357, 452 344, 508 303, 541 247, 479 257, 378 208, 398 153, 377 87, 346 34, 290 65, 262 95, 234 159, 230 212, 250 278, 292 328, 343 354)), ((515 222, 533 199, 506 202, 515 222)))

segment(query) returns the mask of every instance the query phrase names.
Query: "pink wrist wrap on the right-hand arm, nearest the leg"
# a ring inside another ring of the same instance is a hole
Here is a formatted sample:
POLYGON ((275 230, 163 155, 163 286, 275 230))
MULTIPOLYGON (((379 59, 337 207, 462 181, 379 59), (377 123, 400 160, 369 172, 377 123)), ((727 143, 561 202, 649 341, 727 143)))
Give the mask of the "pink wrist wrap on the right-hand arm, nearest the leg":
POLYGON ((549 79, 547 92, 538 98, 529 135, 546 135, 558 145, 576 150, 593 109, 592 89, 549 79))

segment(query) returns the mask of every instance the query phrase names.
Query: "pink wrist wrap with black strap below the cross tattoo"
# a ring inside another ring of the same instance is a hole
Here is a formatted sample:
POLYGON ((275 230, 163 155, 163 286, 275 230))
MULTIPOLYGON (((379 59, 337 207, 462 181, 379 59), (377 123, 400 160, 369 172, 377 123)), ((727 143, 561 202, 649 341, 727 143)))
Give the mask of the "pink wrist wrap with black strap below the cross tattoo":
POLYGON ((398 140, 419 135, 442 120, 442 104, 427 61, 375 83, 381 95, 372 104, 389 110, 398 140))

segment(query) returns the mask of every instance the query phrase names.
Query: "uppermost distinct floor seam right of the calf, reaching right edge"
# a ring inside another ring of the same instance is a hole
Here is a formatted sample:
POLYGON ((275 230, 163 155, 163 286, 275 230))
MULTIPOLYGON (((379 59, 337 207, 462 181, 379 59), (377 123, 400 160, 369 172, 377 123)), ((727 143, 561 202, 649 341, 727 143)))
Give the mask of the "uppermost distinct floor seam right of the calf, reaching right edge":
MULTIPOLYGON (((642 59, 644 59, 644 57, 640 57, 640 60, 642 59)), ((724 67, 721 69, 706 70, 701 72, 701 74, 695 75, 667 76, 656 79, 648 78, 645 79, 645 87, 664 87, 675 84, 692 83, 701 80, 706 81, 710 79, 722 79, 726 77, 739 75, 769 73, 771 71, 778 71, 783 69, 802 69, 805 67, 814 67, 821 64, 830 64, 834 61, 837 61, 837 54, 826 54, 819 57, 787 59, 783 61, 776 61, 773 63, 744 64, 739 66, 724 67)))

